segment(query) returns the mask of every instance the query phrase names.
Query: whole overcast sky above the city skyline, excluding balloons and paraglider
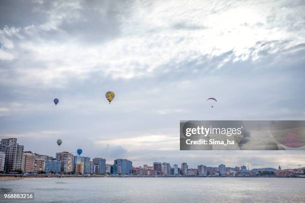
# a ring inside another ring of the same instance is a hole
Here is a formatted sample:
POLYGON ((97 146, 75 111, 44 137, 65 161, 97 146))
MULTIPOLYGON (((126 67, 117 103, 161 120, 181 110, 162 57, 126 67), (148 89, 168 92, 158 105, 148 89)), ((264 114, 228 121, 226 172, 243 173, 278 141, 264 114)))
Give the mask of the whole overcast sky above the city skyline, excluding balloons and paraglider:
POLYGON ((0 138, 134 166, 298 168, 305 151, 179 151, 179 120, 305 119, 304 10, 304 0, 1 0, 0 138))

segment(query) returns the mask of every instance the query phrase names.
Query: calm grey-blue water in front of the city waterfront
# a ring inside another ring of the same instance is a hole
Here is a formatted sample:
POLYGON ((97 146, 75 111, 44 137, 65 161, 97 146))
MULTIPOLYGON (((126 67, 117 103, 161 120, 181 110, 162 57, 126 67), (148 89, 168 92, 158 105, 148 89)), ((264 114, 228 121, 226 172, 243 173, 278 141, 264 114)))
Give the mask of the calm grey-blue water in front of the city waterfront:
POLYGON ((0 193, 7 190, 12 193, 34 192, 35 200, 19 201, 26 203, 305 202, 305 178, 58 178, 0 181, 0 193))

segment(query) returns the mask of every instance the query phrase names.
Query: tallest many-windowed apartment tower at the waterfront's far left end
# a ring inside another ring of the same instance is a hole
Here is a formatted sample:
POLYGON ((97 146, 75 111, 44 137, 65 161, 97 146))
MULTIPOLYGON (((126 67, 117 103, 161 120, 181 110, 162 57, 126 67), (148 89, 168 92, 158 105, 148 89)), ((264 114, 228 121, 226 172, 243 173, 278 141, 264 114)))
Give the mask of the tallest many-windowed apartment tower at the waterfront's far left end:
POLYGON ((17 138, 1 139, 0 151, 5 153, 4 171, 22 170, 23 145, 17 143, 17 138))

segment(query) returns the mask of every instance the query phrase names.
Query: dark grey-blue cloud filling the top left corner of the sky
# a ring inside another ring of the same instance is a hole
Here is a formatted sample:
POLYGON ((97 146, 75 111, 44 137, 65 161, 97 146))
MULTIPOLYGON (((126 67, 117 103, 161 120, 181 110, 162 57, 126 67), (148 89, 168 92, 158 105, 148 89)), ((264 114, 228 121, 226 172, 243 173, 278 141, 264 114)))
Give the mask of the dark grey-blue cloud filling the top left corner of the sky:
MULTIPOLYGON (((31 41, 103 43, 120 34, 121 18, 129 14, 132 1, 1 1, 0 28, 20 28, 31 41), (14 15, 13 15, 14 14, 14 15)), ((13 40, 24 40, 14 38, 13 40)))

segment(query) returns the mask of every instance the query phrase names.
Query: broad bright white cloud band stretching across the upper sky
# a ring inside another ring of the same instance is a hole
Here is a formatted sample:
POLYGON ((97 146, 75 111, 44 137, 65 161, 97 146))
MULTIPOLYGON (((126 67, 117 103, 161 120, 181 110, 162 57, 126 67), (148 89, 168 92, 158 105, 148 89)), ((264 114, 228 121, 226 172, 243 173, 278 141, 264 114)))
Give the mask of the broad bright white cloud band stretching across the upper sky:
MULTIPOLYGON (((212 1, 154 1, 132 4, 130 9, 134 12, 130 13, 117 7, 120 35, 102 43, 97 38, 94 45, 60 27, 64 21, 80 23, 89 19, 83 15, 82 6, 80 2, 54 2, 45 23, 4 27, 1 43, 11 52, 2 50, 1 58, 12 60, 18 56, 16 72, 27 81, 50 86, 70 75, 84 78, 95 71, 114 79, 147 77, 159 73, 160 67, 169 63, 200 63, 201 56, 213 59, 233 50, 232 55, 216 65, 220 68, 231 60, 258 60, 262 57, 258 53, 266 48, 273 54, 305 43, 302 6, 287 6, 285 1, 231 1, 224 5, 212 1), (62 12, 67 8, 71 11, 62 12), (292 31, 291 27, 295 29, 292 31), (44 35, 45 31, 50 34, 44 35), (268 47, 257 44, 269 41, 273 44, 268 47), (26 57, 22 57, 24 52, 26 57)), ((98 11, 101 17, 107 12, 105 9, 98 11)), ((101 38, 105 33, 107 30, 100 33, 101 38)))

